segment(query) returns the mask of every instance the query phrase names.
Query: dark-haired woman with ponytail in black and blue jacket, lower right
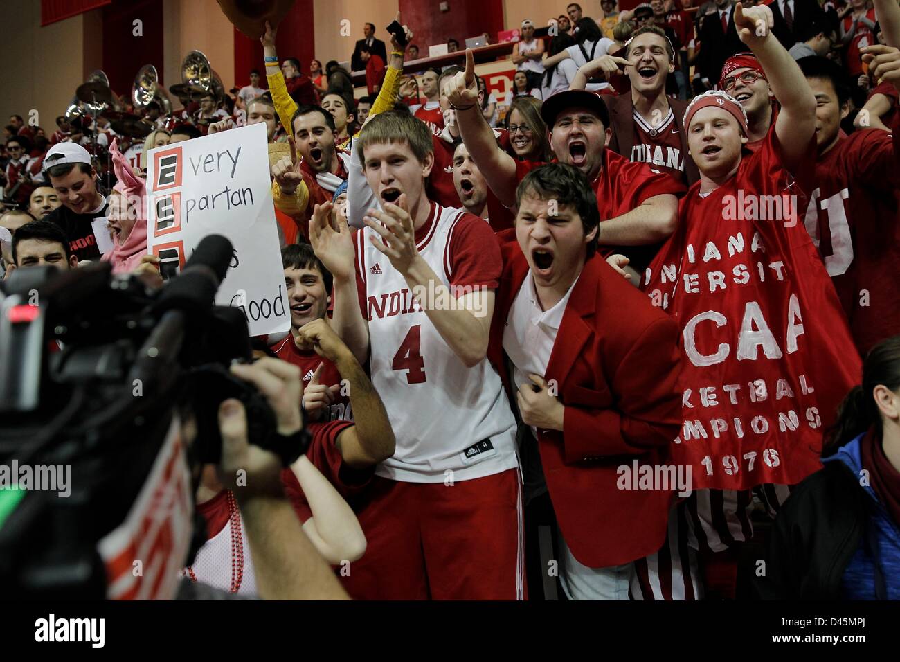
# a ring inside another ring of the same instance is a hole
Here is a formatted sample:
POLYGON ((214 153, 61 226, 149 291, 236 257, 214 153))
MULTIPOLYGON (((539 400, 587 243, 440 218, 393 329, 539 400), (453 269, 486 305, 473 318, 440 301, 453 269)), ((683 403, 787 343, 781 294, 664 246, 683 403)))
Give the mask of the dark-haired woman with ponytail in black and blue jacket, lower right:
POLYGON ((775 520, 758 593, 900 600, 900 335, 869 350, 823 456, 775 520))

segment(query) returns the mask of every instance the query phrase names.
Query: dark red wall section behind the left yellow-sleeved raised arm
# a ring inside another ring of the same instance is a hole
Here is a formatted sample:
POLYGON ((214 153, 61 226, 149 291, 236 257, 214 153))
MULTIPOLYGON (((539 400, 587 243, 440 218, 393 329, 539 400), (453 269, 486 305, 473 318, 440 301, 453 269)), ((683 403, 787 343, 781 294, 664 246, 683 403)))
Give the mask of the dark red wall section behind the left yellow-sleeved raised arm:
MULTIPOLYGON (((314 16, 312 0, 297 0, 291 11, 278 26, 275 48, 278 58, 300 60, 300 69, 304 74, 310 72, 310 62, 315 57, 316 40, 313 29, 314 16)), ((262 75, 260 86, 266 85, 266 63, 263 61, 263 45, 259 40, 251 40, 242 32, 234 31, 234 77, 235 85, 242 87, 250 84, 250 69, 259 69, 262 75)))

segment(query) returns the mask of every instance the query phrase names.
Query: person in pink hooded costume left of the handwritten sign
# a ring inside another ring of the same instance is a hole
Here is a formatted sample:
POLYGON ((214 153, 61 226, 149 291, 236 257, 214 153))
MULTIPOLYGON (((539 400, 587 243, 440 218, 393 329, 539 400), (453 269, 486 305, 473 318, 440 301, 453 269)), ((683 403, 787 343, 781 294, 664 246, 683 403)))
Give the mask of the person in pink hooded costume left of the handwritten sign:
POLYGON ((156 258, 147 255, 147 187, 121 155, 118 140, 112 141, 110 157, 119 181, 109 198, 112 250, 106 251, 101 259, 112 262, 113 274, 156 271, 156 258))

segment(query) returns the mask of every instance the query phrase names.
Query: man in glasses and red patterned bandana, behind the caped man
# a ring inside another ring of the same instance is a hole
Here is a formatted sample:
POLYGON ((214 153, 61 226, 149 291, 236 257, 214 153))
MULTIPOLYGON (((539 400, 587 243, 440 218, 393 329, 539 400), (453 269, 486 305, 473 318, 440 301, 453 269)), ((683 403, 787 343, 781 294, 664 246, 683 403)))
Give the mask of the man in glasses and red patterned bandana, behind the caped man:
POLYGON ((752 53, 738 53, 726 59, 722 76, 719 77, 719 89, 725 90, 743 105, 743 112, 747 113, 747 142, 744 147, 759 150, 778 115, 778 102, 760 60, 752 53))

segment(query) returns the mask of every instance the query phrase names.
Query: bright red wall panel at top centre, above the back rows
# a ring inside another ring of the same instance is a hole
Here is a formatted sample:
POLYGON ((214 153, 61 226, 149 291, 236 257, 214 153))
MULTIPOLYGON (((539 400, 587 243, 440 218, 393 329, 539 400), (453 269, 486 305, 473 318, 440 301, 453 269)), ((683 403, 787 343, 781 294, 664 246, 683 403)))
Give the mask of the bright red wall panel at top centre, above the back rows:
MULTIPOLYGON (((453 37, 460 50, 465 40, 482 32, 497 39, 503 30, 503 0, 446 0, 450 11, 440 11, 440 0, 400 0, 403 23, 413 26, 413 40, 419 46, 419 57, 428 57, 428 46, 446 43, 453 37)), ((388 44, 389 45, 389 44, 388 44)))

